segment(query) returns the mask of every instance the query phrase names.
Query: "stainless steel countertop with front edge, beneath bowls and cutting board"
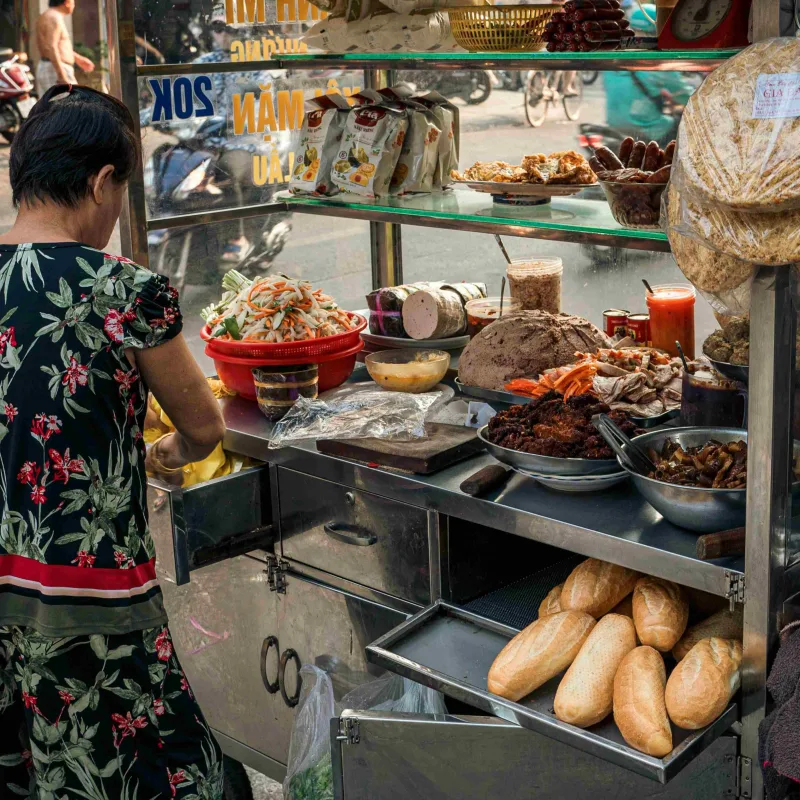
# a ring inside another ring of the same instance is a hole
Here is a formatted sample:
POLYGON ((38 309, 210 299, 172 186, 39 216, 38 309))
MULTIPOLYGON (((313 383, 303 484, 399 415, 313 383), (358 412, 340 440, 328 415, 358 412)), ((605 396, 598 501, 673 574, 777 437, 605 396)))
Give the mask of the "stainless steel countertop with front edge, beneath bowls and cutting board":
POLYGON ((612 561, 721 597, 729 591, 730 576, 744 572, 741 557, 699 561, 697 534, 667 522, 629 484, 566 497, 516 475, 501 492, 475 499, 459 486, 481 467, 496 463, 488 454, 434 475, 392 472, 322 455, 313 444, 270 450, 271 428, 255 403, 230 398, 222 401, 222 409, 227 449, 306 475, 343 486, 368 486, 374 494, 408 505, 612 561))

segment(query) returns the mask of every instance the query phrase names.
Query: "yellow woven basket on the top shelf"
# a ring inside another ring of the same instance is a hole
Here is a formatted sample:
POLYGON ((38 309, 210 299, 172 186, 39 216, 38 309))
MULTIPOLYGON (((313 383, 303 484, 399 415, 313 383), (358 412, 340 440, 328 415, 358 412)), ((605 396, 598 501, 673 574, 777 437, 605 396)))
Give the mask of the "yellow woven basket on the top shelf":
POLYGON ((561 8, 538 6, 481 6, 451 8, 453 38, 470 52, 497 53, 542 50, 544 26, 561 8))

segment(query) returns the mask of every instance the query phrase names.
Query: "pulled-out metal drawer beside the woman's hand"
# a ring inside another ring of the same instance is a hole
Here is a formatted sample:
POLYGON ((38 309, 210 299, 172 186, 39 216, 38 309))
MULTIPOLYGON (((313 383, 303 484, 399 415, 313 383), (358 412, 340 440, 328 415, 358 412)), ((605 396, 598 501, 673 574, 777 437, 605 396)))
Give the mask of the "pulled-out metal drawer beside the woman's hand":
POLYGON ((159 566, 179 586, 193 569, 272 549, 267 464, 188 489, 150 478, 147 508, 159 566))

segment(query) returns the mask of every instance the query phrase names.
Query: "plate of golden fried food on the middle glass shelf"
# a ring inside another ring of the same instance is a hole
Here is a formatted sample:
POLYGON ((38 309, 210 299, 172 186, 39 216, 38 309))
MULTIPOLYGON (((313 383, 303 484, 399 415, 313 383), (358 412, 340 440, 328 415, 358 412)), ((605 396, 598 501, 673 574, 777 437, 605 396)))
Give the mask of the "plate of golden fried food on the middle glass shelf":
POLYGON ((574 150, 525 156, 519 165, 505 161, 477 161, 451 177, 477 192, 494 196, 495 202, 539 205, 553 197, 568 197, 597 183, 589 162, 574 150))

